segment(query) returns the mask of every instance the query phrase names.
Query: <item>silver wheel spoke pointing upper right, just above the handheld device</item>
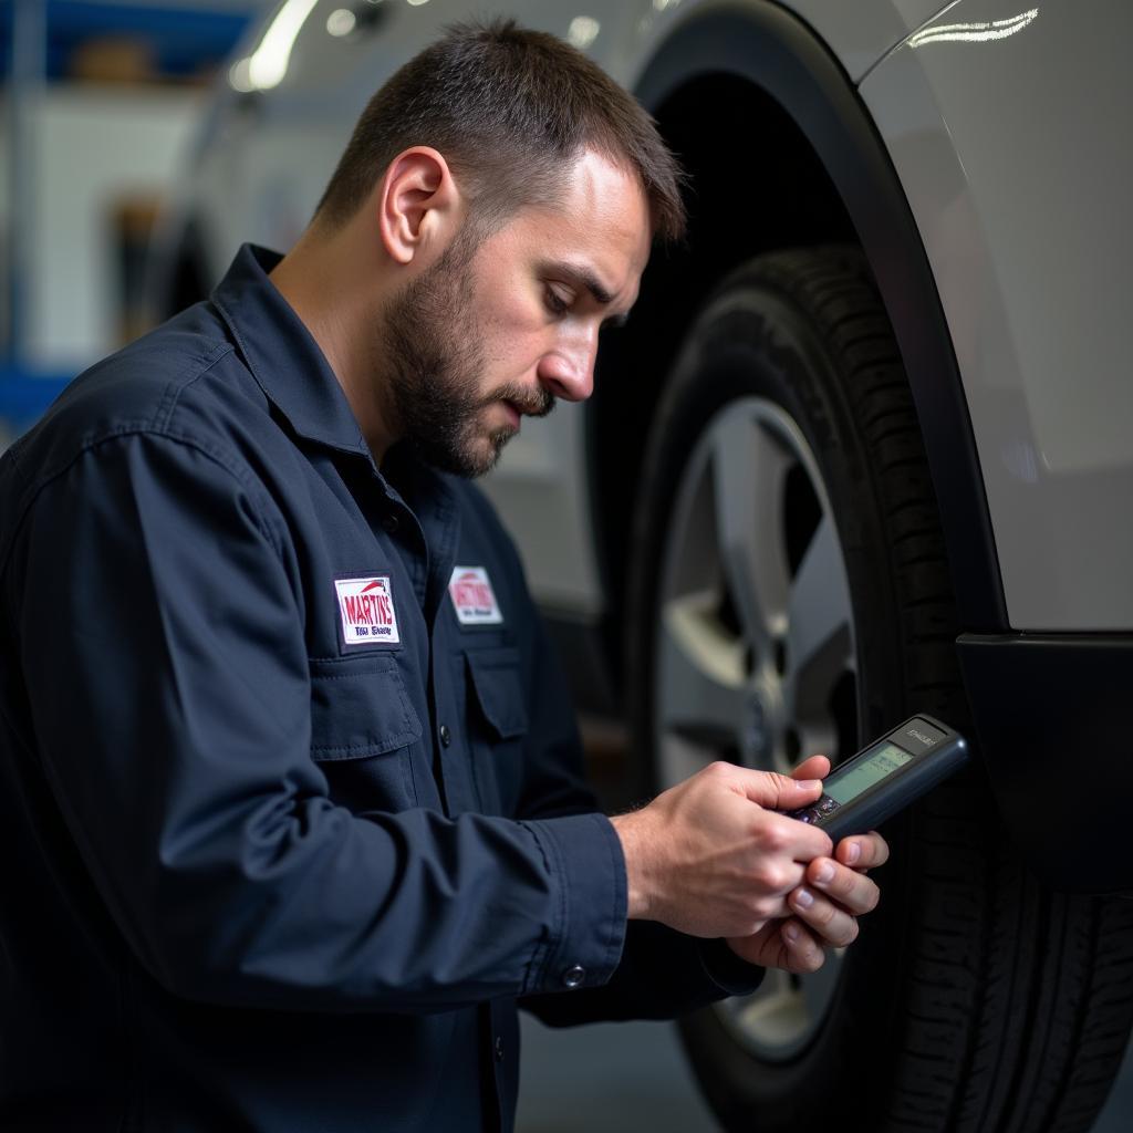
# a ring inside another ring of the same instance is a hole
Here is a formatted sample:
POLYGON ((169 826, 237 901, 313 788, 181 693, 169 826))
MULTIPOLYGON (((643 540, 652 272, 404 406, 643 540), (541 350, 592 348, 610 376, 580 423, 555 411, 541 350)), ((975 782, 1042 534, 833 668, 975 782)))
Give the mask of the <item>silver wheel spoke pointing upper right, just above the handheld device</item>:
POLYGON ((853 665, 850 590, 829 516, 802 557, 787 608, 790 707, 795 717, 825 716, 834 682, 853 665))

